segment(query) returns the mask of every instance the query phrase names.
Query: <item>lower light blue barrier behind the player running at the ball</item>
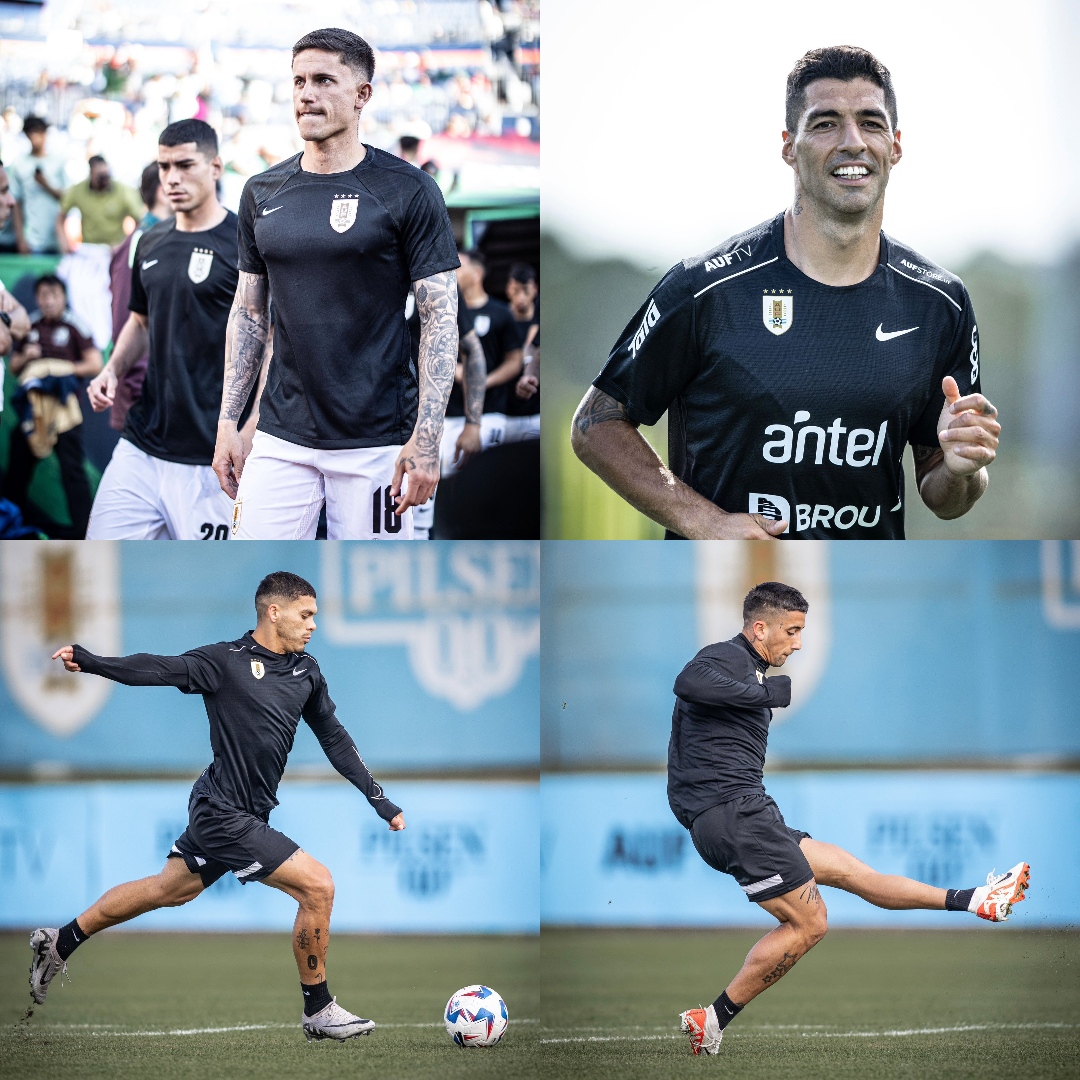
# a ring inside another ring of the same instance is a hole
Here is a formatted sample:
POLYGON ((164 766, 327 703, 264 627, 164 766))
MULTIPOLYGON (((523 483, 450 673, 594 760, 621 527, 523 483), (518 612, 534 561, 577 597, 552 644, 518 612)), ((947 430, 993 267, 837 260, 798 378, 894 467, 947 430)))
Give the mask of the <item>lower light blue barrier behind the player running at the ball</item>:
MULTIPOLYGON (((0 927, 62 926, 120 881, 161 869, 187 825, 190 784, 0 786, 0 927)), ((329 867, 339 931, 536 933, 535 783, 387 785, 391 833, 347 783, 286 782, 270 824, 329 867)), ((226 874, 184 907, 130 930, 289 930, 296 902, 226 874)))

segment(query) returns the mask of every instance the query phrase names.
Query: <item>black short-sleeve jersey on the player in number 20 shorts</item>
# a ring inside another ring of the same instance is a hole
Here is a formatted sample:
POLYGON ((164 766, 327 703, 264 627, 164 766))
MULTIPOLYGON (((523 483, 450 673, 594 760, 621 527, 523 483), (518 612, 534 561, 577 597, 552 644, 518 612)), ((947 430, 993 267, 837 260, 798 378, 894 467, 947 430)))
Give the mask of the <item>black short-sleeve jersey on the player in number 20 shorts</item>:
POLYGON ((139 238, 129 308, 147 316, 150 361, 123 436, 151 457, 189 465, 214 460, 225 330, 235 292, 231 211, 202 232, 181 232, 168 218, 139 238))

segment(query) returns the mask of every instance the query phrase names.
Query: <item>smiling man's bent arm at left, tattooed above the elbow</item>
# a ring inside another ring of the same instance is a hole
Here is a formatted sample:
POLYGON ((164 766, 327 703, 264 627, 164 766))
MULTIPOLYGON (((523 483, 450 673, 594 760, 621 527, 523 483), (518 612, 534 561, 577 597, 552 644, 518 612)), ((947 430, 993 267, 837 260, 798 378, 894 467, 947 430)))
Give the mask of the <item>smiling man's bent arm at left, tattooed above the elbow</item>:
POLYGON ((676 478, 622 402, 591 387, 573 416, 575 454, 647 517, 688 540, 768 540, 787 528, 760 514, 729 514, 676 478))

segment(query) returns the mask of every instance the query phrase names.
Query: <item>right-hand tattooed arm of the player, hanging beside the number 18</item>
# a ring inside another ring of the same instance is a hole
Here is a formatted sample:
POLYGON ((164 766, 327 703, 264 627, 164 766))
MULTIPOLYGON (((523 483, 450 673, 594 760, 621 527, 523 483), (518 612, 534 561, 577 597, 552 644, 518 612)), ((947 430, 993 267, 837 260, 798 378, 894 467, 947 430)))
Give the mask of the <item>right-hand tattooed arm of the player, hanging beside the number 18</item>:
POLYGON ((414 282, 420 315, 420 406, 413 435, 397 455, 393 497, 401 495, 408 473, 408 489, 394 513, 426 503, 438 483, 438 446, 443 418, 458 363, 458 280, 453 270, 414 282))

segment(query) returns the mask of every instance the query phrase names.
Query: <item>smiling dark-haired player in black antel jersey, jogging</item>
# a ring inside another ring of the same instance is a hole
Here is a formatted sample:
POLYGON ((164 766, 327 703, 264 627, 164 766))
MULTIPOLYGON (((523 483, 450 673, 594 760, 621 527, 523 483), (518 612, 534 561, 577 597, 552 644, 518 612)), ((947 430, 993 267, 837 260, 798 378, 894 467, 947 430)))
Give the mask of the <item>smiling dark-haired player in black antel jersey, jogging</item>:
POLYGON ((664 275, 575 416, 575 450, 669 537, 904 536, 966 514, 1000 424, 963 283, 881 231, 901 159, 888 69, 863 49, 787 77, 795 200, 664 275), (669 464, 636 430, 669 418, 669 464))

